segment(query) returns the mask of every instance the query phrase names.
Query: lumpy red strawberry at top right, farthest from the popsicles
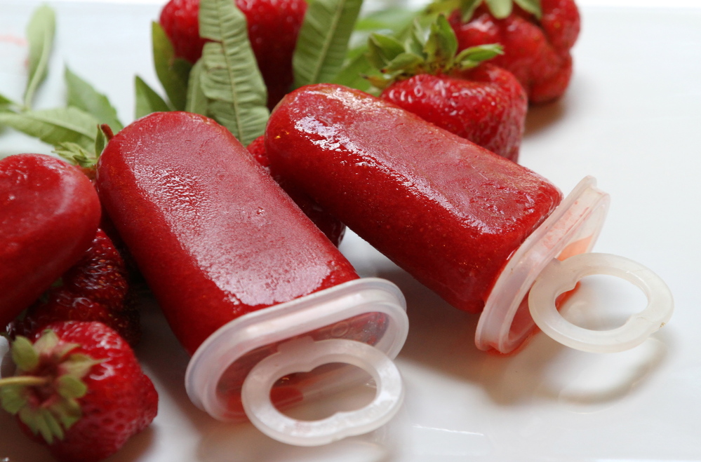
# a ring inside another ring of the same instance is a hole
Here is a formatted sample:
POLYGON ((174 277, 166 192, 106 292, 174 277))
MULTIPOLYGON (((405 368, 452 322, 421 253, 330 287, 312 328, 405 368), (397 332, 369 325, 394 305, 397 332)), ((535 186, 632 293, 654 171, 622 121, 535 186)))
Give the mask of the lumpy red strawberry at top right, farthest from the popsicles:
POLYGON ((570 49, 580 32, 575 2, 492 0, 485 3, 463 0, 461 8, 450 16, 460 50, 483 43, 500 43, 504 55, 496 57, 493 63, 519 79, 530 102, 544 103, 560 97, 572 75, 570 49))

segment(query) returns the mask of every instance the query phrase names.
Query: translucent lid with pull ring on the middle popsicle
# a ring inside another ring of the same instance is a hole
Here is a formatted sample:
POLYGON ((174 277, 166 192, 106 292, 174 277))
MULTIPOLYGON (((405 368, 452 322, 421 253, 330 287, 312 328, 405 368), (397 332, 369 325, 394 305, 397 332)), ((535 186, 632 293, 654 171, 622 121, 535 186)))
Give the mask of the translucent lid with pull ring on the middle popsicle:
POLYGON ((375 430, 397 412, 403 386, 392 359, 407 333, 406 301, 396 285, 352 280, 220 327, 190 360, 185 388, 215 419, 248 419, 288 444, 326 444, 375 430), (321 372, 304 379, 296 374, 312 369, 321 372), (298 421, 277 409, 357 383, 366 377, 360 370, 377 388, 362 409, 321 421, 298 421))

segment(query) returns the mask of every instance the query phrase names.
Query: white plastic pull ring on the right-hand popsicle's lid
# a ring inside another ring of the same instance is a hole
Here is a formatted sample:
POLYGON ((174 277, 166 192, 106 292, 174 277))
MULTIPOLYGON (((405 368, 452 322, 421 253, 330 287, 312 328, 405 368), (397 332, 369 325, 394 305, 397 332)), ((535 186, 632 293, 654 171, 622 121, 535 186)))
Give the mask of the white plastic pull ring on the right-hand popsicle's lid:
POLYGON ((589 253, 552 260, 531 287, 528 307, 538 327, 561 344, 592 353, 615 353, 638 346, 665 325, 672 317, 674 301, 667 284, 645 266, 618 255, 589 253), (573 325, 557 311, 555 300, 580 279, 594 274, 633 283, 646 295, 648 305, 616 329, 599 331, 573 325))

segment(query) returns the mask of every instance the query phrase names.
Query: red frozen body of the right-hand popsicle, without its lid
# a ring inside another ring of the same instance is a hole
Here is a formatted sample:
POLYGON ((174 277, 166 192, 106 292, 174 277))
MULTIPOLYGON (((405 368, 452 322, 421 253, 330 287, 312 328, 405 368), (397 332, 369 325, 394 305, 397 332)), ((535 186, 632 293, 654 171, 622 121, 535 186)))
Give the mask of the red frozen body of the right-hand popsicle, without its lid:
POLYGON ((478 312, 561 201, 546 179, 359 90, 295 90, 272 114, 274 173, 456 308, 478 312))

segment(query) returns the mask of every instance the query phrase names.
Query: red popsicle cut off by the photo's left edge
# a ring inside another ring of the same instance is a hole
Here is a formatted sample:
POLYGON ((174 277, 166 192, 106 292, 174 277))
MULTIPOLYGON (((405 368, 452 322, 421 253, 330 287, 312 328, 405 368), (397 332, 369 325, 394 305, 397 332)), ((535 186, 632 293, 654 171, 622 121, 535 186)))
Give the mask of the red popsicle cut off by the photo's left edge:
POLYGON ((0 160, 0 329, 81 258, 99 220, 78 168, 42 154, 0 160))

